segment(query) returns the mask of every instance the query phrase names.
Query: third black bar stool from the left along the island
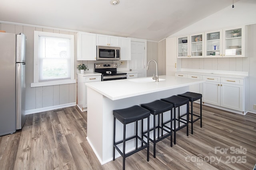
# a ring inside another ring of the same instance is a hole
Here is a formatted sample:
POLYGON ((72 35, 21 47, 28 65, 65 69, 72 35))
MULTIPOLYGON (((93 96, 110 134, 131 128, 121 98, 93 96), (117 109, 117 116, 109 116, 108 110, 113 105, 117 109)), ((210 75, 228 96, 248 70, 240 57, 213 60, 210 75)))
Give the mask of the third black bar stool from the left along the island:
POLYGON ((182 129, 183 127, 187 127, 187 136, 188 136, 188 122, 189 122, 189 100, 187 98, 183 98, 180 96, 171 96, 168 98, 161 99, 164 102, 171 103, 174 107, 174 145, 176 145, 176 131, 182 129), (187 113, 183 116, 187 115, 187 120, 180 120, 180 106, 187 105, 187 113), (176 108, 178 107, 178 119, 176 119, 176 108), (176 121, 178 121, 178 128, 176 128, 176 121), (180 126, 180 123, 184 123, 184 125, 180 126))

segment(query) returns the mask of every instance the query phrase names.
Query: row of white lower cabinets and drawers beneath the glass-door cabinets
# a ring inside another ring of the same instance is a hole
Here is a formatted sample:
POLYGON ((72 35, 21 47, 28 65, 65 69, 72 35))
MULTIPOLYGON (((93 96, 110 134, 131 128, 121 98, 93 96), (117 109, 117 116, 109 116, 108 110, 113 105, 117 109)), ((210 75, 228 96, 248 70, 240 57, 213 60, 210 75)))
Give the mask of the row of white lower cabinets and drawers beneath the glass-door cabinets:
MULTIPOLYGON (((245 88, 247 77, 230 78, 221 76, 209 76, 204 73, 187 74, 176 72, 175 76, 184 78, 197 78, 206 80, 202 84, 190 86, 190 92, 202 94, 202 102, 211 106, 220 106, 228 109, 245 111, 245 88)), ((234 77, 237 77, 236 75, 234 77)), ((240 113, 239 112, 239 113, 240 113)))

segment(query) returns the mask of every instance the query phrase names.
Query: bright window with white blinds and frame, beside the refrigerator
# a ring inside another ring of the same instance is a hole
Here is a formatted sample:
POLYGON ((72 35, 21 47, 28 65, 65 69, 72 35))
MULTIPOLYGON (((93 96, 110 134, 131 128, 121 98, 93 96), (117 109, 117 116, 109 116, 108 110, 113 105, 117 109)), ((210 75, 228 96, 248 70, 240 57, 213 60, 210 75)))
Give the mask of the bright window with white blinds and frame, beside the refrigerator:
POLYGON ((31 87, 75 83, 74 35, 34 31, 31 87))

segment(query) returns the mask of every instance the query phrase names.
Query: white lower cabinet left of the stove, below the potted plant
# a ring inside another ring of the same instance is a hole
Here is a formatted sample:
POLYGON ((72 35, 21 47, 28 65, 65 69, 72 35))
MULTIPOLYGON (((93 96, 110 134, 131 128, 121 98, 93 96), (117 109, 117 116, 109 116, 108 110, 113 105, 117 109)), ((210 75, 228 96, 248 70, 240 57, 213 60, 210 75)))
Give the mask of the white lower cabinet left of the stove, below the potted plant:
POLYGON ((101 81, 101 75, 77 74, 77 106, 81 111, 87 110, 87 88, 85 83, 101 81))

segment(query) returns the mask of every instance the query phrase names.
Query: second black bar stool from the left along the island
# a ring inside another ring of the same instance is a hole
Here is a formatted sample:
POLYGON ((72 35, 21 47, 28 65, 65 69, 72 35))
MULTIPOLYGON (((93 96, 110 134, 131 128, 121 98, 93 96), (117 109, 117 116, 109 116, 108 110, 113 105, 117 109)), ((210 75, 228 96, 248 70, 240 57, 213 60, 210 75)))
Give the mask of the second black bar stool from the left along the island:
MULTIPOLYGON (((154 125, 153 128, 149 129, 149 131, 153 131, 154 137, 153 139, 149 138, 149 140, 154 145, 154 158, 156 158, 156 143, 159 141, 165 139, 168 136, 171 136, 171 147, 172 147, 172 104, 156 100, 154 102, 150 102, 147 104, 141 104, 141 107, 144 107, 150 111, 152 115, 154 115, 154 125), (170 120, 163 122, 163 113, 166 111, 171 111, 170 113, 170 120), (156 126, 156 115, 158 115, 158 125, 156 126), (161 115, 161 125, 160 125, 160 115, 161 115), (166 126, 167 123, 170 123, 170 127, 166 126), (158 129, 158 139, 156 140, 156 129, 158 129), (161 129, 161 137, 160 137, 160 129, 161 129), (163 135, 163 132, 166 132, 167 134, 163 135)), ((145 134, 145 132, 144 132, 145 134)), ((148 133, 149 134, 149 133, 148 133)), ((144 135, 145 137, 148 137, 148 135, 144 135)))

